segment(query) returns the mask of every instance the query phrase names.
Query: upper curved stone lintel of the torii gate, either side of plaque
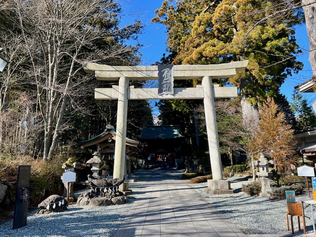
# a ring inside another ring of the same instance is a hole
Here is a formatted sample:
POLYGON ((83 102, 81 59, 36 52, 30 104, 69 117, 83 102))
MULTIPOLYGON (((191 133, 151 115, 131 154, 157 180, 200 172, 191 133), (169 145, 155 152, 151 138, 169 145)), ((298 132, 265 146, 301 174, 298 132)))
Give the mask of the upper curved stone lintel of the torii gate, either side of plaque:
MULTIPOLYGON (((230 78, 237 71, 243 71, 248 60, 210 64, 210 65, 174 65, 174 79, 201 79, 209 76, 212 79, 230 78)), ((118 80, 126 77, 129 80, 157 80, 158 65, 155 66, 109 66, 97 63, 85 63, 83 69, 86 73, 94 73, 99 80, 118 80)))

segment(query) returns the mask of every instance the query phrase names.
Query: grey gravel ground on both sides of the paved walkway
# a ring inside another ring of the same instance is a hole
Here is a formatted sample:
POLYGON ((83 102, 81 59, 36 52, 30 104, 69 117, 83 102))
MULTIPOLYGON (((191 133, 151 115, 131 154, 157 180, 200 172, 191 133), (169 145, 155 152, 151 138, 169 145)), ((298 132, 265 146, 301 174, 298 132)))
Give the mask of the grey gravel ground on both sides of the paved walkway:
MULTIPOLYGON (((189 182, 189 181, 188 181, 189 182)), ((231 181, 232 189, 240 189, 248 181, 231 181)), ((118 230, 135 198, 140 197, 142 184, 130 183, 133 195, 124 205, 103 207, 69 205, 68 211, 37 215, 29 213, 27 226, 12 230, 13 221, 0 225, 1 237, 112 237, 118 230)), ((269 200, 251 197, 239 192, 230 195, 207 195, 203 189, 207 183, 192 184, 197 192, 223 213, 237 228, 246 234, 290 234, 286 230, 286 200, 269 200)), ((84 192, 76 193, 76 196, 84 192)), ((307 194, 297 196, 297 201, 308 199, 307 194)), ((310 216, 310 208, 305 209, 310 216)), ((294 217, 295 232, 298 231, 294 217)), ((311 220, 306 218, 307 233, 313 232, 311 220)), ((303 228, 302 228, 303 229, 303 228)))

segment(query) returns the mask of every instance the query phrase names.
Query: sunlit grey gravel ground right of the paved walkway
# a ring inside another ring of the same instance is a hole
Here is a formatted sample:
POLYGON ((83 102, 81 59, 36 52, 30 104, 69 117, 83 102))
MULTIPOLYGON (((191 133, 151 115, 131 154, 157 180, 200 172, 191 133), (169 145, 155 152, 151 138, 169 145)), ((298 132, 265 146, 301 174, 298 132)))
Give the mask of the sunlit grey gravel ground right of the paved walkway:
MULTIPOLYGON (((249 184, 250 182, 231 181, 231 188, 241 189, 242 184, 249 184)), ((208 195, 203 192, 203 189, 207 188, 207 183, 191 184, 191 186, 246 234, 291 233, 287 231, 286 226, 286 199, 270 200, 267 197, 252 197, 243 192, 229 195, 208 195)), ((296 196, 296 201, 307 199, 310 199, 307 197, 307 193, 296 196)), ((305 209, 305 215, 311 216, 310 207, 305 209)), ((308 218, 305 219, 306 233, 312 233, 312 221, 308 218)), ((297 233, 299 232, 297 217, 293 217, 293 222, 294 232, 297 233)), ((302 220, 301 229, 303 234, 302 220)))

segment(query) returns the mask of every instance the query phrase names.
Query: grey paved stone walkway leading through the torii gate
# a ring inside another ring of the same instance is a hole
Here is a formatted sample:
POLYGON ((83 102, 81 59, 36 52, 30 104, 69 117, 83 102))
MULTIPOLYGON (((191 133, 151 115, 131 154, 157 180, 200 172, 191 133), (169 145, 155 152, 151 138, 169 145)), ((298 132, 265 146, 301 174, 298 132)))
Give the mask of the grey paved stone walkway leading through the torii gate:
MULTIPOLYGON (((138 182, 137 182, 138 183, 138 182)), ((247 237, 171 170, 153 170, 115 237, 247 237)))

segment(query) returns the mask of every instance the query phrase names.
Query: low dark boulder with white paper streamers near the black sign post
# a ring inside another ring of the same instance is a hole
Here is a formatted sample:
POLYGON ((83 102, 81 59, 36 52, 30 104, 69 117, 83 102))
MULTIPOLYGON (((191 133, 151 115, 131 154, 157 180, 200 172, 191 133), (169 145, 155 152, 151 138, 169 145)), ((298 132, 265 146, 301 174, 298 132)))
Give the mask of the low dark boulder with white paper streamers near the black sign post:
MULTIPOLYGON (((65 197, 60 195, 51 195, 43 200, 38 207, 40 210, 47 210, 53 212, 65 211, 67 210, 68 202, 65 197)), ((43 211, 38 211, 41 214, 43 211)), ((45 211, 46 212, 46 211, 45 211)))

